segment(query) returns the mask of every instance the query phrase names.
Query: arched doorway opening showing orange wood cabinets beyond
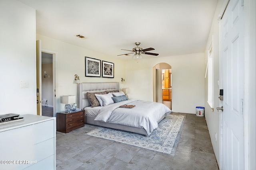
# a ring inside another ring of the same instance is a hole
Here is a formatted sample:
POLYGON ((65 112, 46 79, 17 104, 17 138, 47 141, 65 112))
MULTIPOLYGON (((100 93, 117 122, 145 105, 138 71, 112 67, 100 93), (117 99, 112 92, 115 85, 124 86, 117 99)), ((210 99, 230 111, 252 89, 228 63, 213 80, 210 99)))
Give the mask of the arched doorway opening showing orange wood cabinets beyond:
POLYGON ((168 63, 153 67, 153 101, 172 108, 172 66, 168 63))

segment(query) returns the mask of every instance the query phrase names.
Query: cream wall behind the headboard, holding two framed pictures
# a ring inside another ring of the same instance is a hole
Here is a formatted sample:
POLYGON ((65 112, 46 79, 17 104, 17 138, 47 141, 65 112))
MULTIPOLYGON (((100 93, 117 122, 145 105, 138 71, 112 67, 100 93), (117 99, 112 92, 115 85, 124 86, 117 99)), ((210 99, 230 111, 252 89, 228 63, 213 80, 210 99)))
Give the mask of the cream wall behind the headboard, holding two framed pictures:
MULTIPOLYGON (((121 78, 125 76, 125 61, 116 59, 116 57, 106 56, 38 34, 36 39, 42 40, 42 49, 58 53, 56 112, 64 111, 65 104, 60 104, 60 96, 77 96, 77 84, 74 83, 75 74, 78 74, 80 82, 121 82, 121 78), (114 63, 114 78, 85 77, 85 56, 114 63)), ((122 88, 121 83, 120 88, 122 88)))

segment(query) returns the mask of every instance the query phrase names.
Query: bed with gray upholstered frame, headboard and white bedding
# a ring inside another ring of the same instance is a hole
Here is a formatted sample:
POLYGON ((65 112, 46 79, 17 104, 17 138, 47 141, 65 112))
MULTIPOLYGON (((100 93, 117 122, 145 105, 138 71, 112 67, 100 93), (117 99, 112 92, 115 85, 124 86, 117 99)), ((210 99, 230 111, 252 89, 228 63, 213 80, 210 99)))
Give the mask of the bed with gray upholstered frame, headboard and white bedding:
MULTIPOLYGON (((164 104, 142 100, 121 100, 121 102, 118 101, 111 104, 104 103, 106 106, 94 106, 94 103, 92 103, 94 107, 91 106, 91 95, 109 98, 109 94, 114 96, 113 94, 120 93, 119 82, 78 84, 78 107, 85 110, 84 122, 148 136, 158 127, 158 123, 171 112, 164 104), (91 102, 88 98, 90 98, 91 102), (135 105, 136 107, 131 109, 119 107, 125 104, 135 105), (159 113, 155 114, 155 112, 159 113)), ((121 97, 116 97, 116 99, 121 97)))

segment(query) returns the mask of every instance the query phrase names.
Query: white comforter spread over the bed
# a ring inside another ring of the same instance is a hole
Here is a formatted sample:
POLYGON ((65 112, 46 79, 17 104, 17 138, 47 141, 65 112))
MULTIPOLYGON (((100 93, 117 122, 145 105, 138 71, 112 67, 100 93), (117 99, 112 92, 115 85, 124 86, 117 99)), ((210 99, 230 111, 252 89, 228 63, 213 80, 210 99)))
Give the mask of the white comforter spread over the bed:
POLYGON ((116 123, 132 127, 144 128, 148 135, 158 127, 157 121, 171 110, 164 104, 142 100, 126 100, 104 106, 94 120, 116 123), (132 109, 119 108, 124 104, 132 104, 132 109))

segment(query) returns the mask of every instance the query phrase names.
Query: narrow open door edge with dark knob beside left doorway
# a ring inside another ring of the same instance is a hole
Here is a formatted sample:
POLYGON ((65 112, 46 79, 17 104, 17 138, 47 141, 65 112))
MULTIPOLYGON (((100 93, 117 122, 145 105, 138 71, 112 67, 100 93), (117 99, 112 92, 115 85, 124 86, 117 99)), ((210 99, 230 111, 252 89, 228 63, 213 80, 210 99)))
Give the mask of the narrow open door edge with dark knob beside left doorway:
POLYGON ((36 41, 36 108, 37 115, 42 115, 42 49, 41 40, 36 41))

